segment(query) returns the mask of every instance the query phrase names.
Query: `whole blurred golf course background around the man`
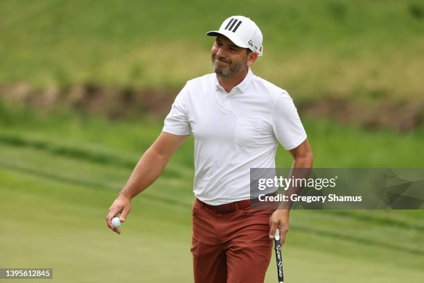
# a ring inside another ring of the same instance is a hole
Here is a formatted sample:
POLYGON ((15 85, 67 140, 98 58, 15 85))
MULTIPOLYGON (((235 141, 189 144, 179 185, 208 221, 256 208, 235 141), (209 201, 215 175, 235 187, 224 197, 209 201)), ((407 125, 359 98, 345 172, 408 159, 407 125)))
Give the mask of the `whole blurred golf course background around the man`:
MULTIPOLYGON (((213 71, 205 33, 230 15, 260 26, 252 70, 294 98, 316 167, 423 168, 423 0, 2 0, 0 268, 193 282, 192 138, 121 235, 105 216, 179 89, 213 71)), ((291 164, 279 148, 277 165, 291 164)), ((287 282, 424 280, 422 211, 291 215, 287 282)))

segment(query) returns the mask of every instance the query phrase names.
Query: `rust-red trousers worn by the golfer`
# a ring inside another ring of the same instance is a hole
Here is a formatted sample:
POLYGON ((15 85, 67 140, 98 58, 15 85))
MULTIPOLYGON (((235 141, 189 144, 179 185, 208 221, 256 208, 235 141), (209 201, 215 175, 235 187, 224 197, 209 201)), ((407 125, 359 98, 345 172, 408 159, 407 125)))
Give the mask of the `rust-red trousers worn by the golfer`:
POLYGON ((195 283, 262 283, 270 264, 270 216, 274 210, 245 207, 216 212, 193 204, 191 253, 195 283))

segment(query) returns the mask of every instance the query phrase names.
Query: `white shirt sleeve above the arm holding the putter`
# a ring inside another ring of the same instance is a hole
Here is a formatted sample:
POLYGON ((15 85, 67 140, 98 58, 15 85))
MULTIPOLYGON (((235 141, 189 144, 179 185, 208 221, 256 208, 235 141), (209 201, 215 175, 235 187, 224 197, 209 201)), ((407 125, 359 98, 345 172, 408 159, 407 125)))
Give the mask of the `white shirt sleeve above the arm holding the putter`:
POLYGON ((285 150, 290 151, 305 141, 305 129, 287 92, 281 93, 276 99, 271 119, 274 135, 285 150))

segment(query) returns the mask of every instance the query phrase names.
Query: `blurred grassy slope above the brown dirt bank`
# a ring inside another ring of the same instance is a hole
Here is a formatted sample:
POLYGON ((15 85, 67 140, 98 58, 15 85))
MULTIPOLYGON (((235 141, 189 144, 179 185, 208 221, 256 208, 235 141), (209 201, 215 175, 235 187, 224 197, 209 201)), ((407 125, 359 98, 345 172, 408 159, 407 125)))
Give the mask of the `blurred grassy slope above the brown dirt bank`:
POLYGON ((0 84, 179 89, 211 72, 204 33, 234 14, 262 28, 256 74, 297 99, 423 93, 418 0, 1 1, 0 84))

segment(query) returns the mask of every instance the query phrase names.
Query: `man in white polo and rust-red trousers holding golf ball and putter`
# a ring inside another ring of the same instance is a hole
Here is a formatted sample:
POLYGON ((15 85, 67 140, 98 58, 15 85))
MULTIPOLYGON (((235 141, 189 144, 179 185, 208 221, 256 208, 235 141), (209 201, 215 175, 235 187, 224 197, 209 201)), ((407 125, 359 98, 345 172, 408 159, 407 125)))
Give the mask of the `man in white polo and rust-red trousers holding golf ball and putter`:
POLYGON ((175 98, 163 132, 136 165, 127 185, 109 208, 107 225, 130 200, 154 182, 168 160, 193 133, 195 178, 191 252, 195 282, 263 282, 272 237, 288 232, 288 209, 260 210, 250 205, 250 168, 275 166, 279 142, 294 157, 293 168, 310 168, 306 132, 285 90, 252 74, 263 54, 263 36, 251 19, 226 19, 215 36, 215 70, 189 80, 175 98))

